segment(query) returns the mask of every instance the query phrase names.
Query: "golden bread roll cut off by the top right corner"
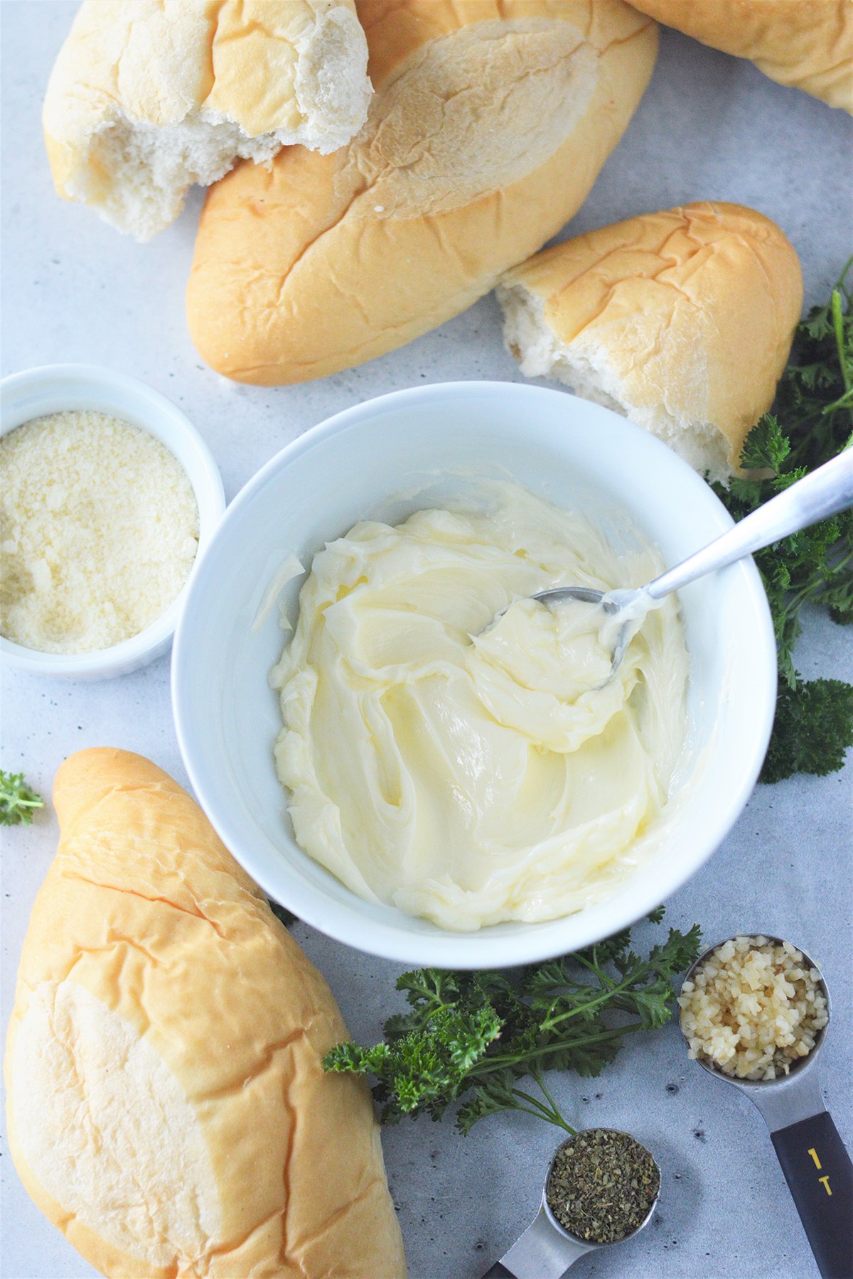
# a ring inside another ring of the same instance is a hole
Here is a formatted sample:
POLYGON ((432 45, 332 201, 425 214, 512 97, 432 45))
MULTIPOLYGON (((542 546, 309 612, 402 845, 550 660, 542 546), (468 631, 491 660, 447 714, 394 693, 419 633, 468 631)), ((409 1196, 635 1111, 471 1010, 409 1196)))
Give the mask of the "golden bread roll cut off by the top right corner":
POLYGON ((632 0, 668 27, 749 58, 780 84, 853 113, 852 0, 632 0))

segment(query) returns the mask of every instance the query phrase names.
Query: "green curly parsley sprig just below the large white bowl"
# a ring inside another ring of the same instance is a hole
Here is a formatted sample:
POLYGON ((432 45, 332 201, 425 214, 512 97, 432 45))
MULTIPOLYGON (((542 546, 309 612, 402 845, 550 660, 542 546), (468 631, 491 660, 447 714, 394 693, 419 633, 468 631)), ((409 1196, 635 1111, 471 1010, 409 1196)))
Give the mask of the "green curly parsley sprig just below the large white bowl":
MULTIPOLYGON (((650 918, 660 922, 662 907, 650 918)), ((696 959, 698 926, 669 930, 647 955, 630 930, 519 972, 421 968, 399 977, 409 1008, 385 1022, 371 1048, 339 1044, 327 1071, 367 1074, 384 1123, 459 1104, 457 1126, 500 1110, 522 1110, 564 1128, 549 1092, 549 1071, 597 1076, 627 1035, 657 1030, 671 1017, 674 980, 696 959), (527 1081, 531 1081, 527 1083, 527 1081)))

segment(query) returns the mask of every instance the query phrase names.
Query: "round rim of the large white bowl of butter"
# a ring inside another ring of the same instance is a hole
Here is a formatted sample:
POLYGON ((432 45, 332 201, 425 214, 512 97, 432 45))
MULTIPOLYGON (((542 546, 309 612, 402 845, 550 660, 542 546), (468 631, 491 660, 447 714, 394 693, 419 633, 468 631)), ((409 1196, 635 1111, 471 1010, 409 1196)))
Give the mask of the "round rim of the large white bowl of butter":
MULTIPOLYGON (((376 395, 359 404, 341 409, 339 413, 309 427, 290 444, 280 449, 243 486, 229 504, 214 535, 211 542, 212 554, 206 556, 205 561, 200 565, 200 573, 194 577, 192 587, 196 588, 197 583, 201 586, 202 579, 215 572, 217 544, 228 537, 230 526, 240 518, 243 508, 252 501, 254 494, 267 483, 272 475, 294 458, 315 448, 326 437, 349 430, 361 420, 371 417, 375 412, 381 412, 391 404, 399 407, 412 400, 428 399, 436 395, 441 398, 454 395, 464 399, 466 396, 474 396, 483 390, 499 390, 501 395, 522 395, 531 399, 541 396, 575 399, 568 391, 559 391, 551 388, 483 379, 430 382, 423 386, 412 386, 376 395)), ((697 494, 697 500, 708 504, 711 509, 716 508, 720 532, 725 532, 726 528, 734 524, 732 515, 705 480, 687 462, 679 458, 669 445, 643 431, 642 427, 638 427, 628 418, 622 418, 611 411, 605 412, 607 413, 607 428, 610 431, 616 434, 623 431, 630 431, 632 434, 641 432, 643 448, 648 449, 651 457, 655 454, 666 457, 670 464, 674 463, 678 468, 682 468, 684 483, 693 489, 697 494)), ((758 648, 763 651, 762 660, 756 669, 755 689, 758 714, 753 724, 755 737, 751 764, 748 767, 744 767, 735 785, 726 793, 725 802, 720 803, 719 808, 714 811, 711 821, 705 828, 705 838, 701 842, 694 842, 693 848, 687 851, 678 870, 673 868, 668 876, 664 893, 666 899, 677 893, 712 856, 743 812, 758 779, 772 729, 776 706, 776 642, 770 606, 761 577, 752 559, 740 560, 733 568, 739 568, 746 576, 749 593, 757 606, 760 620, 756 642, 758 648), (697 852, 697 848, 701 848, 702 852, 697 852)), ((436 934, 422 934, 414 932, 407 926, 408 917, 402 911, 399 912, 399 923, 381 922, 373 918, 370 921, 366 920, 362 909, 363 903, 354 893, 350 894, 350 899, 345 903, 333 900, 315 884, 309 883, 293 862, 285 861, 284 854, 281 867, 286 875, 283 876, 281 881, 276 881, 275 874, 269 872, 263 856, 258 856, 252 847, 252 840, 246 838, 244 831, 240 829, 240 822, 231 820, 229 806, 226 802, 223 802, 221 793, 215 787, 207 784, 203 767, 197 766, 192 747, 191 716, 188 715, 188 709, 184 706, 182 691, 183 664, 192 661, 192 642, 185 638, 187 628, 191 624, 192 591, 188 608, 182 614, 175 634, 171 663, 171 703, 178 746, 193 790, 225 847, 263 889, 267 897, 275 902, 280 902, 295 913, 299 920, 311 925, 318 932, 366 954, 409 966, 468 969, 508 968, 541 962, 554 955, 564 954, 569 949, 577 950, 591 945, 619 929, 642 920, 643 916, 661 904, 661 890, 660 888, 655 888, 653 881, 645 886, 641 881, 634 888, 632 879, 630 908, 623 911, 615 921, 607 920, 606 923, 604 921, 613 912, 614 903, 618 903, 622 898, 624 886, 616 889, 610 897, 596 906, 541 923, 513 922, 485 927, 477 932, 437 930, 436 934), (560 941, 560 932, 565 929, 567 921, 572 921, 573 936, 570 945, 561 944, 560 941), (520 930, 524 931, 522 932, 520 930), (441 954, 439 955, 437 952, 441 952, 441 954)))

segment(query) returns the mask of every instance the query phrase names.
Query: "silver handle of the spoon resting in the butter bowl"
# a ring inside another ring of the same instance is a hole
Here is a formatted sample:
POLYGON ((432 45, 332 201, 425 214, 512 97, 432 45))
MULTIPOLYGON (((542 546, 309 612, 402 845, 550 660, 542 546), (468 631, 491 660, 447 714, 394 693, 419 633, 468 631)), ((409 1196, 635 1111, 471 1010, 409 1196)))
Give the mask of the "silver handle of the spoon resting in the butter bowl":
POLYGON ((825 462, 817 471, 797 480, 784 492, 716 537, 708 546, 661 573, 646 590, 652 600, 680 590, 697 577, 760 551, 762 546, 799 532, 820 519, 853 506, 853 448, 825 462))

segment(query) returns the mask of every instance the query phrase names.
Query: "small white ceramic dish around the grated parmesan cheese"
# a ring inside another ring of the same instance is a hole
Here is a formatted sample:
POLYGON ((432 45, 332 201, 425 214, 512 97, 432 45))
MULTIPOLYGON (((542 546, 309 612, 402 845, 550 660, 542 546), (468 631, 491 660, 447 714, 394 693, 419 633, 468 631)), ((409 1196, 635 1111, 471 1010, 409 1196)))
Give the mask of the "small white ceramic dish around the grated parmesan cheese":
MULTIPOLYGON (((212 454, 189 418, 165 395, 136 377, 92 365, 45 365, 13 373, 0 382, 0 435, 33 417, 63 409, 93 409, 120 417, 150 431, 174 453, 198 503, 197 565, 225 510, 225 494, 212 454)), ((188 586, 156 622, 111 648, 83 654, 37 652, 0 636, 0 657, 19 670, 63 679, 125 675, 169 650, 188 586)))

